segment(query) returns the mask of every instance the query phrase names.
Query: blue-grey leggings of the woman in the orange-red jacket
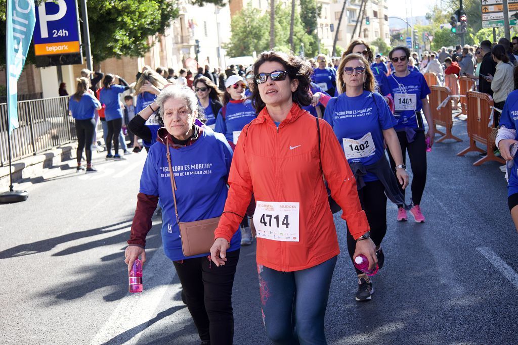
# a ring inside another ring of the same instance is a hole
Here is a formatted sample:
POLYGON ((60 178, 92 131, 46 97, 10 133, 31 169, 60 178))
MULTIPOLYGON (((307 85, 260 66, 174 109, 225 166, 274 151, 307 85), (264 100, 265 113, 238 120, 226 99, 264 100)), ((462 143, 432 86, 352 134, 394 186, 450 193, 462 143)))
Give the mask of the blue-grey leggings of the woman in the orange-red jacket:
POLYGON ((257 265, 263 322, 274 344, 327 344, 324 317, 336 261, 295 272, 257 265))

